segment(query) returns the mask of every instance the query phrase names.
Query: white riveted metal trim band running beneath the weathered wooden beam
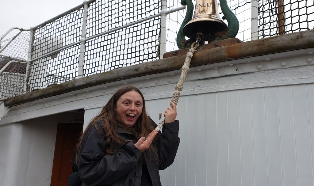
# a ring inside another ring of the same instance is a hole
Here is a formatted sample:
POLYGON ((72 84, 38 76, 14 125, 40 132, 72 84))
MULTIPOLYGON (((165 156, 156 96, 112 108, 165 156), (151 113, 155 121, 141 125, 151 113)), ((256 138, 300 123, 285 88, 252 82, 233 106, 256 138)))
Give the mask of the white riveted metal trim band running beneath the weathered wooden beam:
MULTIPOLYGON (((307 60, 313 57, 312 51, 302 49, 192 67, 181 96, 314 83, 314 63, 307 60)), ((176 70, 110 82, 14 106, 0 125, 70 110, 100 108, 126 84, 138 87, 146 100, 171 98, 180 73, 181 70, 176 70)))

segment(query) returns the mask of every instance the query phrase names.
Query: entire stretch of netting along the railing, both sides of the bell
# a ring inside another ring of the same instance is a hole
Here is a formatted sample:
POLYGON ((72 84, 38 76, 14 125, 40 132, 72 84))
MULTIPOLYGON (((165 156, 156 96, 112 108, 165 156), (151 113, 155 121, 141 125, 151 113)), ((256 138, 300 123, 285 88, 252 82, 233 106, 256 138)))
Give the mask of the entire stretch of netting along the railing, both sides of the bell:
MULTIPOLYGON (((196 1, 192 2, 195 6, 196 1)), ((227 0, 227 3, 240 23, 236 37, 251 40, 251 0, 227 0)), ((86 38, 160 13, 161 1, 95 0, 88 6, 86 38)), ((168 10, 181 6, 180 0, 167 1, 168 10)), ((218 8, 222 18, 220 6, 218 8)), ((26 91, 32 91, 78 77, 83 12, 81 6, 34 30, 29 77, 25 77, 26 64, 19 62, 29 57, 30 32, 20 31, 0 41, 0 67, 9 61, 18 61, 0 74, 0 99, 22 94, 25 80, 26 91), (69 45, 71 47, 61 50, 69 45), (53 52, 58 49, 60 51, 53 52)), ((167 15, 166 51, 178 49, 176 35, 185 15, 186 10, 167 15)), ((314 29, 314 1, 258 0, 258 21, 259 38, 314 29)), ((159 59, 159 37, 160 17, 157 17, 87 40, 83 76, 159 59)))

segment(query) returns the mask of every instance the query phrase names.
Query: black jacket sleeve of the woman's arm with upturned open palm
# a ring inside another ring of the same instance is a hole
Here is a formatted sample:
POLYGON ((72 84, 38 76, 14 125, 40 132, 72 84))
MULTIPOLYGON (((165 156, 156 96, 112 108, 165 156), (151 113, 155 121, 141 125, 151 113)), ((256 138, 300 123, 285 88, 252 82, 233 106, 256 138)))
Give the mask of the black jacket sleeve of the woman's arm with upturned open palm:
POLYGON ((93 185, 109 185, 127 175, 139 158, 141 151, 133 142, 125 143, 112 155, 105 154, 102 149, 104 140, 96 131, 89 131, 83 138, 78 173, 83 183, 93 185))

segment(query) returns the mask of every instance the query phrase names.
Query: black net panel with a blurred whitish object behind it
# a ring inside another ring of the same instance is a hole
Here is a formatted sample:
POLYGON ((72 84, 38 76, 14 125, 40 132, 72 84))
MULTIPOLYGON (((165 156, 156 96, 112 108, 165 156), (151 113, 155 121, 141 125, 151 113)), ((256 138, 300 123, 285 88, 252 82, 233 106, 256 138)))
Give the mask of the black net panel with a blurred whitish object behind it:
MULTIPOLYGON (((83 10, 68 13, 35 29, 32 59, 46 55, 80 40, 83 10)), ((28 91, 60 84, 77 77, 79 44, 32 61, 29 70, 28 91)))

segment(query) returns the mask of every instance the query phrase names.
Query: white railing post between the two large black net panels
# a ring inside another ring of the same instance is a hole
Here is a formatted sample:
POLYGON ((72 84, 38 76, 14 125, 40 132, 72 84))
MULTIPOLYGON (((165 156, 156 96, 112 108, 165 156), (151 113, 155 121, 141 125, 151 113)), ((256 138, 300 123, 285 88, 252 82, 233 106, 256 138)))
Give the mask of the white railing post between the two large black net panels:
POLYGON ((79 50, 79 58, 78 58, 78 77, 82 78, 84 73, 84 53, 85 53, 85 39, 86 39, 86 27, 87 27, 87 11, 88 4, 87 1, 84 1, 84 13, 83 13, 83 25, 82 25, 82 35, 81 35, 81 45, 79 50))

